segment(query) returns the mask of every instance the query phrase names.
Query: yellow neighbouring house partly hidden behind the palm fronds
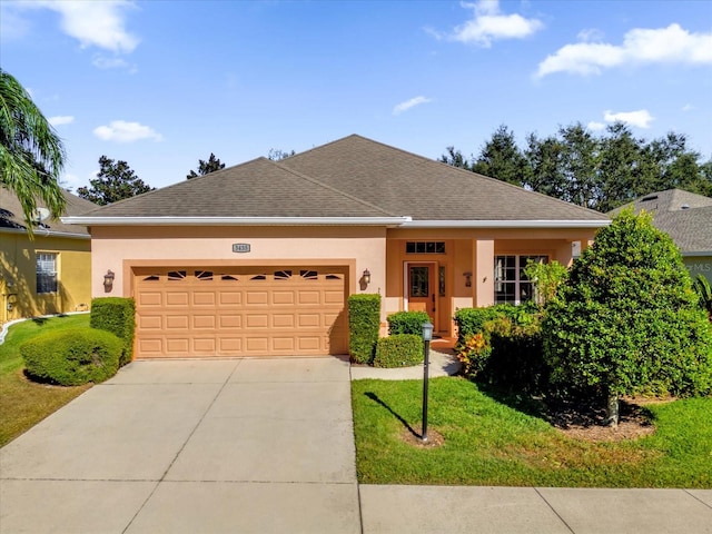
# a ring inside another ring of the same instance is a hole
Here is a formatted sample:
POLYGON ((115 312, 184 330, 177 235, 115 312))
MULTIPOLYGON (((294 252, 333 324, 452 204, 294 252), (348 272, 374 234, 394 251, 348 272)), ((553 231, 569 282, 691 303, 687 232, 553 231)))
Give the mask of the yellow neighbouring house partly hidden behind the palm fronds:
MULTIPOLYGON (((63 191, 68 216, 97 206, 63 191)), ((0 187, 0 324, 23 317, 80 312, 91 304, 91 240, 81 226, 46 218, 38 209, 34 239, 20 202, 0 187)))

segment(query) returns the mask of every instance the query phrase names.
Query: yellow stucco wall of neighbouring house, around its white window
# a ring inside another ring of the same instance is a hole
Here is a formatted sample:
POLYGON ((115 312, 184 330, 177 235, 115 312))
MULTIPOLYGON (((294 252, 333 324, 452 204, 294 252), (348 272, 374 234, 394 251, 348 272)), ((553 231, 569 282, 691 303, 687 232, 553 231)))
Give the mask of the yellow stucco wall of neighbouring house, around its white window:
POLYGON ((81 312, 91 304, 91 241, 0 233, 0 324, 38 315, 81 312), (37 294, 37 253, 56 253, 58 291, 37 294), (12 309, 8 309, 11 304, 12 309))

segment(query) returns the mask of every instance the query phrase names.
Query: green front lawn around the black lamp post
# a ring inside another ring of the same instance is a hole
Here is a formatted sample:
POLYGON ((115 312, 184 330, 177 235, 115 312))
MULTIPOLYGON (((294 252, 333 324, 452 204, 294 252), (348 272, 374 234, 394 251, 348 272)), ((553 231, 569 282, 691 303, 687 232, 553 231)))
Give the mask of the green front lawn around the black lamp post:
POLYGON ((433 378, 428 434, 444 443, 419 447, 404 436, 419 432, 422 388, 421 380, 353 383, 359 482, 712 488, 710 397, 649 406, 653 435, 589 442, 538 417, 536 403, 517 409, 464 378, 433 378))

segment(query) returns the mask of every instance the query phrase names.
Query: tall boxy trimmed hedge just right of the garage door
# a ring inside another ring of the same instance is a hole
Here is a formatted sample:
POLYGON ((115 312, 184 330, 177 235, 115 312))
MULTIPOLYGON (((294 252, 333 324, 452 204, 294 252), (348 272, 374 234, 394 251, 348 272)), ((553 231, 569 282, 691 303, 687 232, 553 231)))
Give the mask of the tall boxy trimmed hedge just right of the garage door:
POLYGON ((380 333, 380 295, 348 297, 348 352, 352 362, 370 364, 380 333))

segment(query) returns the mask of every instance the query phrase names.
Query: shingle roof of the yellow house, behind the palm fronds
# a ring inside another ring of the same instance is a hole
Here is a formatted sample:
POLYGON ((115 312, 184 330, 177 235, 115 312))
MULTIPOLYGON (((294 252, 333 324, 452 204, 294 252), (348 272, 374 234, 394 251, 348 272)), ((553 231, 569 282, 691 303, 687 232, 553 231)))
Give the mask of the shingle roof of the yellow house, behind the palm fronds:
MULTIPOLYGON (((66 216, 79 216, 87 211, 90 211, 97 207, 96 204, 85 200, 71 192, 62 189, 62 195, 67 201, 67 208, 65 209, 66 216)), ((41 201, 38 201, 38 208, 43 208, 41 201)), ((68 225, 60 219, 48 218, 34 224, 33 228, 36 235, 73 235, 88 237, 89 231, 87 228, 77 225, 68 225)), ((14 192, 0 186, 0 230, 27 230, 27 221, 22 215, 22 207, 20 200, 14 192)))

